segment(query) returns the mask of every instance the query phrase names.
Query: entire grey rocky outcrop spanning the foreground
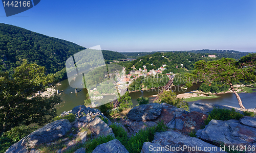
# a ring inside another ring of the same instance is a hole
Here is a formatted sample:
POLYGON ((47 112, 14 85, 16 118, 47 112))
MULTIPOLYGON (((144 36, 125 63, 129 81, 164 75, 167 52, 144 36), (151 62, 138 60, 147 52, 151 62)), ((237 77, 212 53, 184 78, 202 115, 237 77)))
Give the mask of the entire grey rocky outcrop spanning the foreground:
MULTIPOLYGON (((125 123, 128 128, 124 129, 130 130, 129 136, 131 136, 141 129, 157 125, 161 120, 169 127, 166 132, 156 133, 152 142, 145 142, 141 152, 224 152, 220 150, 221 143, 230 147, 233 145, 256 146, 255 117, 246 116, 240 120, 232 119, 227 121, 211 120, 204 127, 204 120, 214 107, 232 108, 195 103, 191 106, 191 111, 188 112, 168 104, 140 105, 127 114, 129 119, 126 119, 125 123), (197 138, 189 137, 189 135, 193 134, 191 132, 196 132, 197 138), (195 151, 195 149, 198 151, 195 151)), ((234 109, 242 112, 239 108, 234 109)), ((254 111, 254 109, 249 109, 249 111, 254 111)), ((70 113, 76 114, 76 120, 72 123, 67 119, 49 123, 13 144, 6 152, 29 152, 28 148, 31 148, 30 152, 38 152, 36 146, 40 144, 54 145, 61 141, 61 143, 63 142, 67 145, 67 147, 57 151, 61 153, 76 146, 78 141, 85 143, 89 137, 88 134, 94 138, 107 135, 114 136, 109 126, 112 124, 111 121, 99 110, 77 106, 72 111, 63 112, 60 116, 66 116, 70 113), (84 129, 81 129, 81 127, 84 127, 84 129)), ((124 125, 122 126, 124 127, 124 125)), ((254 151, 252 148, 251 151, 246 150, 246 152, 250 153, 252 151, 254 151)), ((85 148, 76 150, 76 153, 79 152, 85 152, 85 148)), ((93 152, 128 151, 118 140, 114 139, 98 145, 93 152)))

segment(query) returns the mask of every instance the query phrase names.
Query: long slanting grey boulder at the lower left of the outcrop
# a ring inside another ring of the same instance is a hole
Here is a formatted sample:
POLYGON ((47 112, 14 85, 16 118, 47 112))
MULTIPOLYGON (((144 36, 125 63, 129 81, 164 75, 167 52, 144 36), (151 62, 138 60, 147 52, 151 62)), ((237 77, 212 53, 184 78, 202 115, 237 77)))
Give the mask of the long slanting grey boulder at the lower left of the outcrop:
POLYGON ((69 120, 56 120, 19 140, 19 142, 10 146, 6 152, 27 152, 26 148, 34 148, 39 144, 53 142, 64 136, 70 129, 71 123, 69 120))

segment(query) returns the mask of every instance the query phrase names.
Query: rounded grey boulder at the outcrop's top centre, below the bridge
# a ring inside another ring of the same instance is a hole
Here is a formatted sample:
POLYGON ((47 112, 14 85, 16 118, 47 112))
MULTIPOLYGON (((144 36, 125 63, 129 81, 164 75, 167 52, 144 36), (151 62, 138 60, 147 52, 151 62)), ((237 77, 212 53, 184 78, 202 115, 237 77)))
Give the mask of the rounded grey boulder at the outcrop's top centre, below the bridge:
POLYGON ((153 120, 156 119, 162 111, 162 105, 158 103, 151 103, 148 105, 139 105, 131 109, 126 115, 129 119, 136 121, 153 120))

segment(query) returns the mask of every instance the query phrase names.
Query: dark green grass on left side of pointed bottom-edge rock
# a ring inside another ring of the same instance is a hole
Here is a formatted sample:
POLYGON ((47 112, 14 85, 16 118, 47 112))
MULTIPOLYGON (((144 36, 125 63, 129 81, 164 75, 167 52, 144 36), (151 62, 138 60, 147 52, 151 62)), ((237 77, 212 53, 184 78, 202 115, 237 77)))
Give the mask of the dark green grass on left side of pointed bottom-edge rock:
POLYGON ((94 139, 89 139, 84 145, 83 147, 86 148, 86 152, 92 152, 96 146, 102 144, 102 143, 106 143, 109 142, 111 140, 115 139, 112 135, 108 135, 108 136, 100 136, 98 138, 94 138, 94 139))

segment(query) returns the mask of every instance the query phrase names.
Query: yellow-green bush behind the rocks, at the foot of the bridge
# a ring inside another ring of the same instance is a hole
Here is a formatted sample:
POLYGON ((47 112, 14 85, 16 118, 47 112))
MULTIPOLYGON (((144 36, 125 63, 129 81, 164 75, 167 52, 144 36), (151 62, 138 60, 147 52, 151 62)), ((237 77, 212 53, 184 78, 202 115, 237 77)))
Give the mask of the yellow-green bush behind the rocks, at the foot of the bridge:
POLYGON ((166 103, 188 111, 188 103, 183 101, 182 98, 177 98, 176 93, 173 91, 163 91, 163 93, 159 95, 159 99, 157 103, 166 103))

